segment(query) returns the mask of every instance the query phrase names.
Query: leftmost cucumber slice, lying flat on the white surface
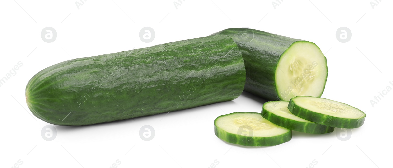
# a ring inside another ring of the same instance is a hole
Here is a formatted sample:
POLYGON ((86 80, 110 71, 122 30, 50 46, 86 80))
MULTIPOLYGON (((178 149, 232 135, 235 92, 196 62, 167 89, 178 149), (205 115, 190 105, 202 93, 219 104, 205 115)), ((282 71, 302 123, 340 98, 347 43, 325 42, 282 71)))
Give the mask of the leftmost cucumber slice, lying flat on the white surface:
POLYGON ((244 146, 274 146, 288 142, 291 130, 261 117, 261 113, 230 113, 214 121, 214 132, 223 141, 244 146))

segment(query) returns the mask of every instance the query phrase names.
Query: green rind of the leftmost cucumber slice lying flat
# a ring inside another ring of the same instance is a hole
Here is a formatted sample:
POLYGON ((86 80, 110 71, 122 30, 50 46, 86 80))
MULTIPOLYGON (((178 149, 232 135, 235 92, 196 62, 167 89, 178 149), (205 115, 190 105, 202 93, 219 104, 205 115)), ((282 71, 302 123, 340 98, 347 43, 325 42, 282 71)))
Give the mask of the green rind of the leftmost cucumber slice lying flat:
MULTIPOLYGON (((231 114, 227 114, 227 115, 231 115, 231 114)), ((257 113, 257 114, 260 115, 261 113, 257 113)), ((217 117, 217 119, 227 115, 221 115, 217 117)), ((216 126, 217 119, 214 120, 214 133, 222 141, 229 142, 232 144, 239 144, 243 146, 275 146, 278 144, 283 144, 285 142, 288 142, 292 139, 292 131, 288 130, 288 132, 274 137, 252 137, 252 138, 250 137, 250 138, 246 138, 246 139, 250 139, 249 141, 242 141, 241 135, 228 133, 227 131, 224 131, 221 128, 217 127, 216 126)))

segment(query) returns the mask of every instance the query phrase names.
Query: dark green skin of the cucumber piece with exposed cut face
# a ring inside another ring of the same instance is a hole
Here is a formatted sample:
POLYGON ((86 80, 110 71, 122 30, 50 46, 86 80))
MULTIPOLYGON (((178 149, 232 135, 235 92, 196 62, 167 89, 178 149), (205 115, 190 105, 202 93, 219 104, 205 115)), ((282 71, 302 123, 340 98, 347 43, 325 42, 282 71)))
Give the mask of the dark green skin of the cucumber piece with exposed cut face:
MULTIPOLYGON (((277 63, 281 55, 292 44, 309 41, 246 28, 225 29, 212 35, 218 34, 231 37, 242 52, 244 66, 246 67, 244 90, 266 100, 283 100, 275 83, 275 71, 279 70, 277 69, 277 63)), ((327 67, 327 65, 324 66, 327 67)), ((325 88, 325 86, 323 87, 325 88)), ((319 96, 322 93, 323 91, 319 96)))

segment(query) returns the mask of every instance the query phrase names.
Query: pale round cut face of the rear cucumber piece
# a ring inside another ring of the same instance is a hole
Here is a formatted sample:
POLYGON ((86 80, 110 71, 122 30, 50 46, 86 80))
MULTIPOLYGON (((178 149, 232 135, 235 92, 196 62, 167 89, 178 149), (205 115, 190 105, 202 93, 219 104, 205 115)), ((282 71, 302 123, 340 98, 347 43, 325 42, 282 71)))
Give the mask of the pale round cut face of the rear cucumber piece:
POLYGON ((297 41, 281 55, 275 71, 281 100, 298 95, 320 97, 327 79, 326 58, 312 42, 297 41))

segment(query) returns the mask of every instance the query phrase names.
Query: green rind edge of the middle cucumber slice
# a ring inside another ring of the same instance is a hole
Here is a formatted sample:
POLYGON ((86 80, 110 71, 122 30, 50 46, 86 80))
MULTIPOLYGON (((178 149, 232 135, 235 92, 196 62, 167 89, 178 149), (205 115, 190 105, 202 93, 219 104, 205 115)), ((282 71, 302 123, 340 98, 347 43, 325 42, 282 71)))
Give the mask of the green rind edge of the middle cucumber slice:
POLYGON ((290 130, 305 132, 305 133, 314 133, 314 134, 321 134, 321 133, 329 133, 334 131, 334 127, 325 126, 322 124, 317 123, 310 123, 310 122, 301 122, 295 121, 292 119, 287 119, 285 117, 281 117, 271 113, 270 111, 266 110, 262 107, 262 117, 273 124, 278 126, 282 126, 284 128, 288 128, 290 130))

